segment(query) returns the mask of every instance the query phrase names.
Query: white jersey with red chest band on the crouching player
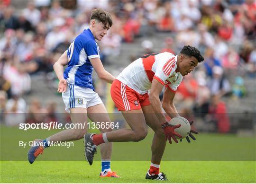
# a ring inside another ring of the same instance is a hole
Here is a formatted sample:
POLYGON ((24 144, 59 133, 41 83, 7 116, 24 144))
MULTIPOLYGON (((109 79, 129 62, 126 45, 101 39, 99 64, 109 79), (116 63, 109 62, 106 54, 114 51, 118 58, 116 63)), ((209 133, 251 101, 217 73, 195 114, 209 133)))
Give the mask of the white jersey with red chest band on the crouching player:
POLYGON ((153 79, 176 92, 183 76, 176 73, 177 56, 172 53, 147 54, 128 65, 117 79, 139 94, 145 94, 151 88, 153 79))

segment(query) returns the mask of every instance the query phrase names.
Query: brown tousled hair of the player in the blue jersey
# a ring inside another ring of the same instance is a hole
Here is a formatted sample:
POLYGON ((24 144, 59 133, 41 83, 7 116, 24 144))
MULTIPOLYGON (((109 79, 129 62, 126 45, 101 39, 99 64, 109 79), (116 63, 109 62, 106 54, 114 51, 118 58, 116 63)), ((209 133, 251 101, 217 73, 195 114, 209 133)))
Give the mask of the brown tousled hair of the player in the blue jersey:
POLYGON ((111 27, 113 25, 112 17, 109 12, 104 11, 103 9, 93 9, 91 10, 91 19, 96 19, 106 27, 111 27))

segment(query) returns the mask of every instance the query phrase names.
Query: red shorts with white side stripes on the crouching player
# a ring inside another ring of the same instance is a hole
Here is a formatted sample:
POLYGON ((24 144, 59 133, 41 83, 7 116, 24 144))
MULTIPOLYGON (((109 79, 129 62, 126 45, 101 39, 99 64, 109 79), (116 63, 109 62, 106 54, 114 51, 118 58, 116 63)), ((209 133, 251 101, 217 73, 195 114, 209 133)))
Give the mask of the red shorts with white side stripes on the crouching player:
POLYGON ((150 105, 147 93, 141 95, 118 79, 113 81, 110 94, 119 111, 137 110, 150 105))

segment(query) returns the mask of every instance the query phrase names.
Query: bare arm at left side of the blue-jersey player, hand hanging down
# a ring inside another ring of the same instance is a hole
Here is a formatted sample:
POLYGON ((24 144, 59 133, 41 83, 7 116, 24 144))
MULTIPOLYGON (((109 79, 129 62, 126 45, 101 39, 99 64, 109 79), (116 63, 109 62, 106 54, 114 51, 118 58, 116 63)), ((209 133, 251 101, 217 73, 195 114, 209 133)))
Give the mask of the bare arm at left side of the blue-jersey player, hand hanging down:
POLYGON ((64 79, 64 66, 68 64, 67 51, 65 51, 61 57, 54 63, 54 71, 59 79, 58 92, 65 92, 67 89, 67 81, 64 79))

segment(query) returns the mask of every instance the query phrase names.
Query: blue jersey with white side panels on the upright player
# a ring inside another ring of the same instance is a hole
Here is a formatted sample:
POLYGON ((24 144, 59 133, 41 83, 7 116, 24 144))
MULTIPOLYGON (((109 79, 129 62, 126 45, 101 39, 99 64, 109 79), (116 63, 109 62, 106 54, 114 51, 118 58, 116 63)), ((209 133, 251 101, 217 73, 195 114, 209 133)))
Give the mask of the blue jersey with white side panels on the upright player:
POLYGON ((69 84, 91 88, 91 72, 93 70, 90 59, 100 58, 100 48, 91 30, 85 29, 78 35, 68 48, 68 67, 64 71, 64 79, 69 84))

